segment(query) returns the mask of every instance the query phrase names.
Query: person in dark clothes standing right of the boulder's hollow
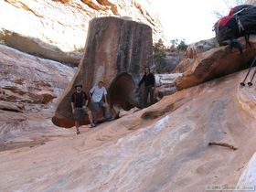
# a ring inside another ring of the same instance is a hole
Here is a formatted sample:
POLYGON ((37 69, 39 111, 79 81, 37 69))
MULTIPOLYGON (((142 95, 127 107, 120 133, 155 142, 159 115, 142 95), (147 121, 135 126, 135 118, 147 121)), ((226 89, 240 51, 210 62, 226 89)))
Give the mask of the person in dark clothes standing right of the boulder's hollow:
POLYGON ((155 75, 150 72, 148 67, 144 68, 144 77, 139 82, 141 87, 144 82, 144 107, 147 107, 147 98, 150 95, 150 105, 154 102, 154 90, 155 90, 155 75))

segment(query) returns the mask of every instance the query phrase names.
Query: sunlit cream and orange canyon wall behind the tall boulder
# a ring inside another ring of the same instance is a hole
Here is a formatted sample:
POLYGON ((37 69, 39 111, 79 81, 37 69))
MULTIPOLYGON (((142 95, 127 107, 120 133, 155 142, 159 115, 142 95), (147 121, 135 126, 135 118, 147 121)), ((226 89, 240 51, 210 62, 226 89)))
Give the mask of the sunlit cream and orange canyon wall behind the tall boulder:
POLYGON ((8 18, 0 21, 0 31, 6 35, 0 40, 5 40, 6 45, 15 44, 22 51, 33 54, 37 51, 45 58, 63 62, 80 59, 88 24, 94 17, 129 16, 152 27, 155 41, 165 40, 160 21, 148 0, 5 0, 0 2, 0 7, 0 17, 8 18), (5 30, 12 36, 8 37, 5 30), (27 46, 29 42, 33 48, 27 46))

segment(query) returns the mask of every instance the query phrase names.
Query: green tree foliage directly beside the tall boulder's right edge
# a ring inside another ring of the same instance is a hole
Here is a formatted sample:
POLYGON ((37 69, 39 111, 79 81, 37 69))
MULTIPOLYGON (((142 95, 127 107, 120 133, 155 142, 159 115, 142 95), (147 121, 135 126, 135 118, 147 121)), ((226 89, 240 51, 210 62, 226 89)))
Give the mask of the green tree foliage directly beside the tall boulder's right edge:
POLYGON ((163 40, 160 38, 153 46, 154 48, 154 62, 155 70, 157 73, 161 73, 165 68, 165 45, 163 40))

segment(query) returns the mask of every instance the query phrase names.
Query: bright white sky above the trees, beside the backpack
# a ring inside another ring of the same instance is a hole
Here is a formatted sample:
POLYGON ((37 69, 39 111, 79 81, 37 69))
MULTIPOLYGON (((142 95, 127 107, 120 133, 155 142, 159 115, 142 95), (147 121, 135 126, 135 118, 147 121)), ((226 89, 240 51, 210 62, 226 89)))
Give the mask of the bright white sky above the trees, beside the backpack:
POLYGON ((224 0, 155 0, 154 4, 165 37, 185 38, 188 44, 215 37, 212 27, 218 18, 213 12, 229 13, 224 0))

